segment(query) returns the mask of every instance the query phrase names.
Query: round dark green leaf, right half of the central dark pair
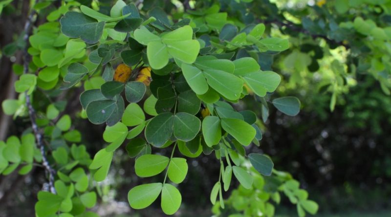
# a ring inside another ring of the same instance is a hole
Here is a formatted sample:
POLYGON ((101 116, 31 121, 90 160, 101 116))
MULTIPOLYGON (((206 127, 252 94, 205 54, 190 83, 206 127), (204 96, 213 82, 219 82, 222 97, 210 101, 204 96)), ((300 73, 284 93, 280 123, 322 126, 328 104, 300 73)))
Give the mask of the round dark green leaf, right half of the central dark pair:
POLYGON ((199 132, 201 121, 188 113, 179 112, 174 116, 174 136, 182 141, 190 141, 199 132))

